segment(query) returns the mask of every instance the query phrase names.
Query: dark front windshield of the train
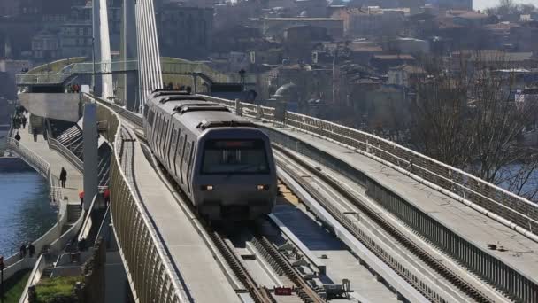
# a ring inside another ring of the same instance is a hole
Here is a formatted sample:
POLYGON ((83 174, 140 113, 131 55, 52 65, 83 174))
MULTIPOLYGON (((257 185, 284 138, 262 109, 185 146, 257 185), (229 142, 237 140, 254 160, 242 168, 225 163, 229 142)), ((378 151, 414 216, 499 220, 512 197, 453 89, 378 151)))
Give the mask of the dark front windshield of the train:
POLYGON ((269 174, 264 141, 208 140, 204 144, 202 174, 269 174))

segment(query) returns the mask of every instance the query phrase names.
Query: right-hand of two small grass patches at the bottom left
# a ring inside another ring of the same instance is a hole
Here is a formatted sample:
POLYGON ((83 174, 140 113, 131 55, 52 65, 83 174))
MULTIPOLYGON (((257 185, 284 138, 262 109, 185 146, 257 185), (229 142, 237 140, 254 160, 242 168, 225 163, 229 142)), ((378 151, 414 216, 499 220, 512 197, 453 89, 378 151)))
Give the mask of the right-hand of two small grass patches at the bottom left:
POLYGON ((54 302, 58 297, 73 295, 74 284, 82 281, 81 276, 58 276, 42 279, 36 286, 37 301, 40 303, 54 302))

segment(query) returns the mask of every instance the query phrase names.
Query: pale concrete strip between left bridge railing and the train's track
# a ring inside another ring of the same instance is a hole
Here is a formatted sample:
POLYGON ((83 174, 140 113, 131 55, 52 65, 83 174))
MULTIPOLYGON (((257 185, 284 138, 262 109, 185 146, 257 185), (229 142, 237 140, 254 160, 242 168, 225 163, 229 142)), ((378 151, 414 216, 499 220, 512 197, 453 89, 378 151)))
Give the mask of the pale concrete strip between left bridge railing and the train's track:
POLYGON ((158 234, 173 260, 173 268, 186 285, 184 290, 195 302, 241 302, 219 264, 178 205, 173 193, 161 181, 142 147, 135 142, 135 182, 142 203, 155 222, 158 234))

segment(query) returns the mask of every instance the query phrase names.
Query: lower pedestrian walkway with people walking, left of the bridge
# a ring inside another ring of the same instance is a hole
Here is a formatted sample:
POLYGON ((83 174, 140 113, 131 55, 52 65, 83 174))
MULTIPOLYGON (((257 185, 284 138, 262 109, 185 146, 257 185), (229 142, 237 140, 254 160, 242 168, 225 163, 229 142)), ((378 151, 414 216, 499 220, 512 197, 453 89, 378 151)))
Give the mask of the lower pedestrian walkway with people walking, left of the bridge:
MULTIPOLYGON (((29 120, 29 117, 27 117, 29 120)), ((31 128, 30 128, 31 129, 31 128)), ((50 150, 49 144, 43 138, 42 134, 37 136, 37 141, 34 142, 34 135, 30 134, 27 128, 19 128, 20 144, 26 146, 27 149, 34 151, 43 160, 49 163, 50 172, 57 179, 60 175, 62 167, 67 171, 67 182, 65 189, 62 189, 62 199, 67 197, 69 204, 79 204, 79 191, 83 189, 82 174, 71 163, 60 155, 57 151, 50 150)), ((17 134, 17 130, 13 131, 13 136, 17 134)), ((59 186, 59 183, 58 183, 59 186)))

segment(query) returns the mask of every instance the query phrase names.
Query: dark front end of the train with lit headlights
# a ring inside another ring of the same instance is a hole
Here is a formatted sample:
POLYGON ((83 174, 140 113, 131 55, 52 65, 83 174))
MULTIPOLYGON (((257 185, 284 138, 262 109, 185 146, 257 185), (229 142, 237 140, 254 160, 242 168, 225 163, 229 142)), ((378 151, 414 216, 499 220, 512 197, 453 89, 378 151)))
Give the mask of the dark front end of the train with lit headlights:
POLYGON ((200 214, 211 221, 244 221, 273 211, 276 167, 262 131, 212 129, 198 146, 193 196, 200 214))

